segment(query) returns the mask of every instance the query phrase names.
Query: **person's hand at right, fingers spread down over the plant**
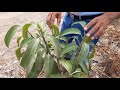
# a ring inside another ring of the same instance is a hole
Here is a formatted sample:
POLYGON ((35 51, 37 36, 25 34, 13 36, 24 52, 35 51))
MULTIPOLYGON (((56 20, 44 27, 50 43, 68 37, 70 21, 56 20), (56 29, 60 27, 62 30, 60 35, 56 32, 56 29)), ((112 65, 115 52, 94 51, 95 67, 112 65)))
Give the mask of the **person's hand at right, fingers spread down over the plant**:
POLYGON ((120 16, 120 13, 104 13, 94 18, 84 28, 87 31, 92 27, 86 35, 91 37, 92 40, 99 38, 105 32, 107 26, 118 16, 120 16))

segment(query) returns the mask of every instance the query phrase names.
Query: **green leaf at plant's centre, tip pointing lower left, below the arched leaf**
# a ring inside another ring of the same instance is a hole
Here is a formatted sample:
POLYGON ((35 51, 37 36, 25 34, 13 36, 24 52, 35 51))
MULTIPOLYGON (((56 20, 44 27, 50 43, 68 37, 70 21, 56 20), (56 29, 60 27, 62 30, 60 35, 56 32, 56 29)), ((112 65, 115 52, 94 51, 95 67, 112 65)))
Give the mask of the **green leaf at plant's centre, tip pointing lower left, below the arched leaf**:
POLYGON ((68 44, 66 45, 62 50, 61 50, 61 54, 60 57, 62 57, 65 53, 68 53, 70 51, 73 51, 77 48, 77 45, 73 45, 73 44, 68 44))

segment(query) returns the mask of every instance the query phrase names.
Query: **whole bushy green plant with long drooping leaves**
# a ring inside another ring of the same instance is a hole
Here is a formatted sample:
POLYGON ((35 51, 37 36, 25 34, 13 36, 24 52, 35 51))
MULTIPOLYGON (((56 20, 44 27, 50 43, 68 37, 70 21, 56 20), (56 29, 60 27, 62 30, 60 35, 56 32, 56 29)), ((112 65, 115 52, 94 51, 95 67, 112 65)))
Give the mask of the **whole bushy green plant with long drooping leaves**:
MULTIPOLYGON (((85 22, 75 22, 72 25, 85 22)), ((16 57, 20 65, 26 70, 27 78, 37 78, 43 70, 47 78, 85 78, 89 75, 90 59, 95 53, 94 44, 89 37, 82 37, 82 42, 77 46, 74 42, 68 44, 70 38, 68 34, 79 34, 77 28, 69 28, 59 34, 59 28, 56 25, 51 26, 51 30, 45 28, 43 23, 28 23, 24 26, 12 26, 4 39, 5 45, 9 47, 10 41, 15 33, 21 29, 22 35, 17 38, 16 57), (37 33, 30 33, 29 28, 35 26, 37 33), (51 32, 51 33, 50 33, 51 32), (63 40, 66 43, 59 42, 63 40), (89 46, 92 46, 91 53, 89 46), (26 46, 26 50, 23 50, 26 46), (65 56, 72 53, 72 58, 66 60, 65 56)))

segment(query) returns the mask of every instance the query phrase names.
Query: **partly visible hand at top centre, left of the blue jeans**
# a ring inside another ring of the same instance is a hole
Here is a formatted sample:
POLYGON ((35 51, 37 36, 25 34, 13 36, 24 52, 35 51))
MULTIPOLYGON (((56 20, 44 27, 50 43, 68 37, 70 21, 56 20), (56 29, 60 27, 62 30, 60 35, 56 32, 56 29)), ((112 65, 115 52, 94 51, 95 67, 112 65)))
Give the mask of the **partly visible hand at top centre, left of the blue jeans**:
POLYGON ((61 12, 50 12, 47 16, 46 23, 50 27, 52 24, 54 24, 55 19, 57 18, 57 25, 60 25, 61 22, 61 12))

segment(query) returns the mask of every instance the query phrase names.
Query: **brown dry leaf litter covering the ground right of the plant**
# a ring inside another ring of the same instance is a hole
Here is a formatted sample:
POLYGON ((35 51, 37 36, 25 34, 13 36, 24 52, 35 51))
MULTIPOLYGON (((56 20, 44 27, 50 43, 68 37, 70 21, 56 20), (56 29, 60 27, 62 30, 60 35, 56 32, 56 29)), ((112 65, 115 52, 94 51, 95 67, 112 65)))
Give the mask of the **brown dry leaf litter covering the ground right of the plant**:
POLYGON ((95 59, 99 63, 94 67, 102 68, 97 70, 99 77, 102 78, 120 78, 120 23, 114 21, 108 26, 105 34, 99 40, 96 46, 95 59))

